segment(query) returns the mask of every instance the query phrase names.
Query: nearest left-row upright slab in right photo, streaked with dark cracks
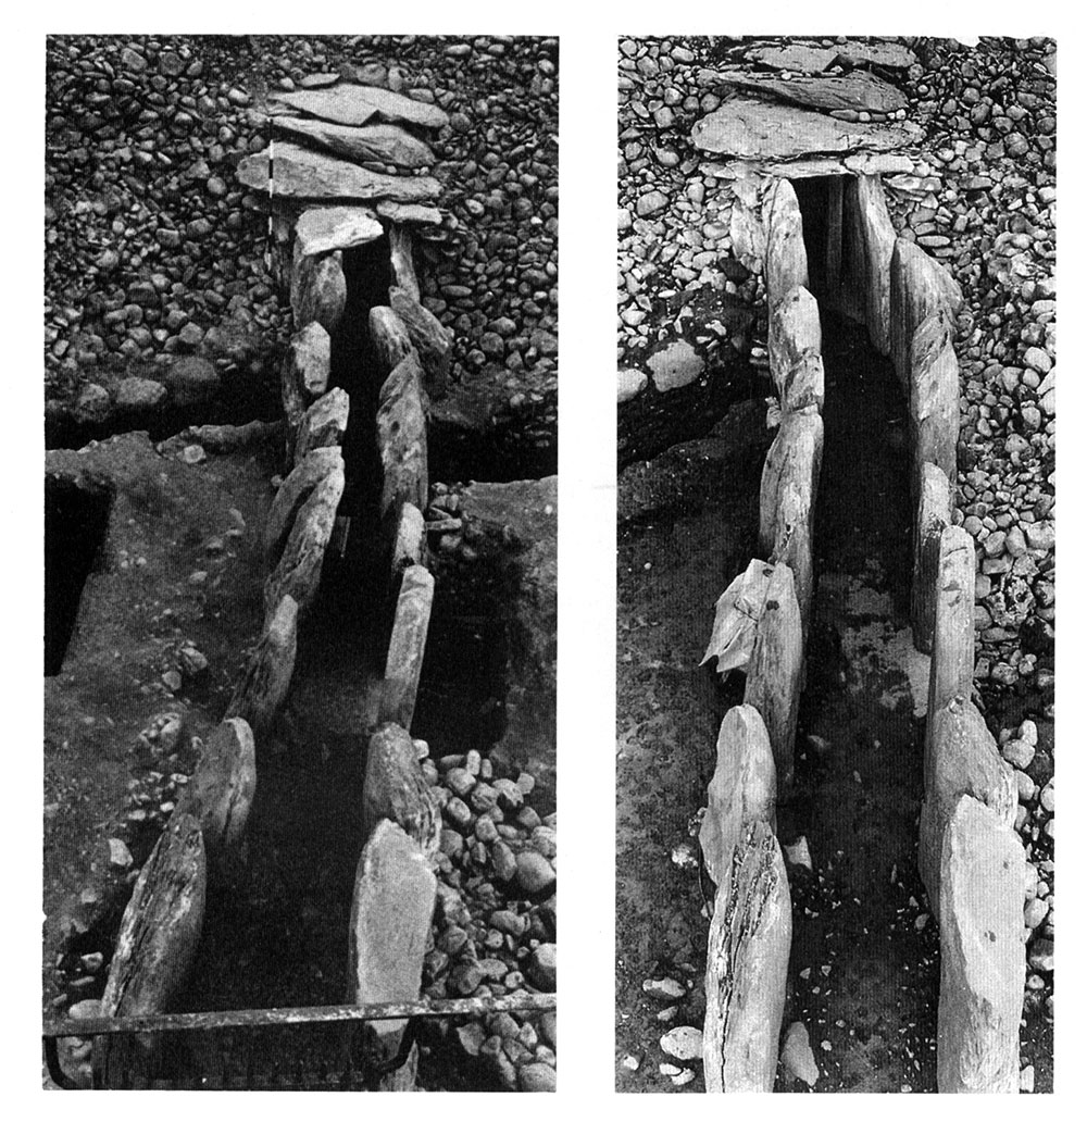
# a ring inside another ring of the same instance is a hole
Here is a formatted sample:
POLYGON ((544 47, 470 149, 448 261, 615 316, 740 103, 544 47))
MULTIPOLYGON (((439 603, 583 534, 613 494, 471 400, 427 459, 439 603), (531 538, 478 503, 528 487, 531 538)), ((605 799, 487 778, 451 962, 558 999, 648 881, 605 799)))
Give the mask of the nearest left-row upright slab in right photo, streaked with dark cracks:
POLYGON ((774 1089, 791 942, 781 848, 768 822, 753 822, 713 904, 702 1030, 708 1092, 774 1089))

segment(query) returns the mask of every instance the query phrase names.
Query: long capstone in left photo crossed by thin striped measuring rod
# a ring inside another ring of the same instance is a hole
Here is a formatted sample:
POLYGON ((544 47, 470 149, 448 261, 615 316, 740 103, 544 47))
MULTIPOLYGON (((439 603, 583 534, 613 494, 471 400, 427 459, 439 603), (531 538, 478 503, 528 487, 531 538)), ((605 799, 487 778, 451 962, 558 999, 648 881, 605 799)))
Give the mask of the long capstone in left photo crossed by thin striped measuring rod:
MULTIPOLYGON (((442 191, 437 180, 429 175, 381 175, 294 144, 276 145, 275 175, 275 194, 284 199, 344 203, 389 199, 399 203, 426 203, 442 191)), ((238 165, 238 178, 243 186, 267 194, 267 149, 246 156, 238 165)))

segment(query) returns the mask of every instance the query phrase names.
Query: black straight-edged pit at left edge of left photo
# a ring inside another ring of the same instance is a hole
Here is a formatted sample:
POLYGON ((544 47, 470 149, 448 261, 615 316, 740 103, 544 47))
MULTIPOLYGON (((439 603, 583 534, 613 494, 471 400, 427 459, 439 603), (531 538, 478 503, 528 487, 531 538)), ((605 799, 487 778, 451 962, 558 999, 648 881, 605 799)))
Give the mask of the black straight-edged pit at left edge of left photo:
POLYGON ((45 479, 45 673, 61 672, 83 586, 98 560, 112 491, 103 481, 45 479))

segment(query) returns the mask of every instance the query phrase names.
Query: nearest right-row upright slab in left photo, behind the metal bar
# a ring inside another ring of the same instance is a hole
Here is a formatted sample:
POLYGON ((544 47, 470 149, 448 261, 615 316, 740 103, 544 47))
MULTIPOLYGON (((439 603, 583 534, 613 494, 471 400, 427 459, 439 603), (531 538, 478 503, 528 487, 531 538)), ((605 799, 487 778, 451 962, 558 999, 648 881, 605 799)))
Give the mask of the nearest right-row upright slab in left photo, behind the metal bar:
MULTIPOLYGON (((381 819, 362 847, 351 903, 349 974, 358 1004, 418 999, 436 890, 418 843, 381 819)), ((387 1055, 406 1023, 371 1022, 387 1055)))

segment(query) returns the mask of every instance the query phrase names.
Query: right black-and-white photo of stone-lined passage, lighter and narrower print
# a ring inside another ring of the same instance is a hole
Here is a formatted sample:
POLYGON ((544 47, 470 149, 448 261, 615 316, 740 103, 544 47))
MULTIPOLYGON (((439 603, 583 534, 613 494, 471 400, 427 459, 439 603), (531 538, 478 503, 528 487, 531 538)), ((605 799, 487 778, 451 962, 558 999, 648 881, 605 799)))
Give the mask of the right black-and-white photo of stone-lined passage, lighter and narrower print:
POLYGON ((616 1088, 1051 1092, 1056 42, 616 46, 616 1088))

